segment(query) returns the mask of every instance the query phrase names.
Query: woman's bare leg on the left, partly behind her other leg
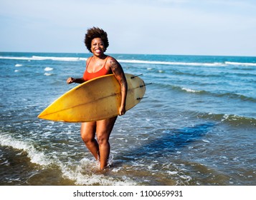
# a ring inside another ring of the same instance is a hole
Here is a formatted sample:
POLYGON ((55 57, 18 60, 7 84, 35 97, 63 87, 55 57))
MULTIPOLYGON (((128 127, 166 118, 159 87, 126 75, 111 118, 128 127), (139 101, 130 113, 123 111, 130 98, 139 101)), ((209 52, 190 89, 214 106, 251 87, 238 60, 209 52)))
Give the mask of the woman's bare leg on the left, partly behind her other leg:
POLYGON ((84 122, 81 124, 81 137, 85 142, 87 149, 93 154, 95 159, 98 159, 99 145, 95 139, 96 121, 84 122))

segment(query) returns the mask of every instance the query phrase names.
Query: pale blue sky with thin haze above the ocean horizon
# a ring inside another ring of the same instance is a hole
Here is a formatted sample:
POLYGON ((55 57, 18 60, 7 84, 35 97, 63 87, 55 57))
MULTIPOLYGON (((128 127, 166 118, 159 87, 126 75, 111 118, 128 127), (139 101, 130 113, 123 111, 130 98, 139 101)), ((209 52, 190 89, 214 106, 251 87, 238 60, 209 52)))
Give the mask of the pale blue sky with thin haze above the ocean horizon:
POLYGON ((0 51, 87 53, 88 28, 107 53, 256 56, 255 0, 0 0, 0 51))

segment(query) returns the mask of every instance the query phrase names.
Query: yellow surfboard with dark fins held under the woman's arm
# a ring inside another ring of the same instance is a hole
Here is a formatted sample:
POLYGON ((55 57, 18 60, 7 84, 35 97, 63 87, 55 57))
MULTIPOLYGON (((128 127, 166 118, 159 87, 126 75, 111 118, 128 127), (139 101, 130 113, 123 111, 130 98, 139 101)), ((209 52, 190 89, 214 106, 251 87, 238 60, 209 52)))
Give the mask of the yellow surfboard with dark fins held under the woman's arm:
MULTIPOLYGON (((146 86, 138 76, 125 74, 128 84, 125 109, 136 106, 143 98, 146 86)), ((86 81, 67 91, 50 104, 39 118, 52 121, 85 122, 118 116, 120 84, 113 74, 86 81)))

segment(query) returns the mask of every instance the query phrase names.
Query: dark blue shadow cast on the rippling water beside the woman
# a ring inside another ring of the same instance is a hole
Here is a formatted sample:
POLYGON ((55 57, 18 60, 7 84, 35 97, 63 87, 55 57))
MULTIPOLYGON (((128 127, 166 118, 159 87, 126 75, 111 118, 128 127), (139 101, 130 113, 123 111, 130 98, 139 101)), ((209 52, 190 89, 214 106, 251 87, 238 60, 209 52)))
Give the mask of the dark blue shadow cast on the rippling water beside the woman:
POLYGON ((178 149, 182 151, 184 146, 202 138, 213 126, 213 123, 204 123, 182 129, 165 129, 161 136, 126 152, 125 157, 156 157, 172 154, 178 149))

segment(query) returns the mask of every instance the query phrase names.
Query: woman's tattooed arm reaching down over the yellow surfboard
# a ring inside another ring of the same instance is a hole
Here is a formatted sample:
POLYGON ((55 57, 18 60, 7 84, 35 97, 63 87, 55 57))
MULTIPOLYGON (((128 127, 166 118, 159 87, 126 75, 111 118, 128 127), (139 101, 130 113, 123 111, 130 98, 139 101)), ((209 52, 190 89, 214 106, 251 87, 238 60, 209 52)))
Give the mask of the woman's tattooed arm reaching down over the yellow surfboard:
POLYGON ((125 79, 125 74, 123 72, 122 66, 118 63, 117 60, 113 59, 112 57, 110 59, 110 67, 113 71, 115 79, 117 79, 118 83, 120 84, 122 100, 119 108, 119 115, 123 115, 125 114, 125 101, 128 90, 127 81, 125 79))

